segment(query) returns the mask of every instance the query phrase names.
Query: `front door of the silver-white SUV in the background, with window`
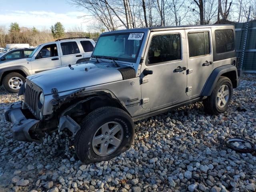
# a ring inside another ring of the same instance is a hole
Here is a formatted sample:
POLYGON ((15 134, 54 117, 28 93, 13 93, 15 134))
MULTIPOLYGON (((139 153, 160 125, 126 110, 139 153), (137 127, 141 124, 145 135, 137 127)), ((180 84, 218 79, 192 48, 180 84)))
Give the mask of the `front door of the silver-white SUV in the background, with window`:
POLYGON ((61 66, 60 51, 56 43, 44 44, 31 58, 33 74, 61 66))

